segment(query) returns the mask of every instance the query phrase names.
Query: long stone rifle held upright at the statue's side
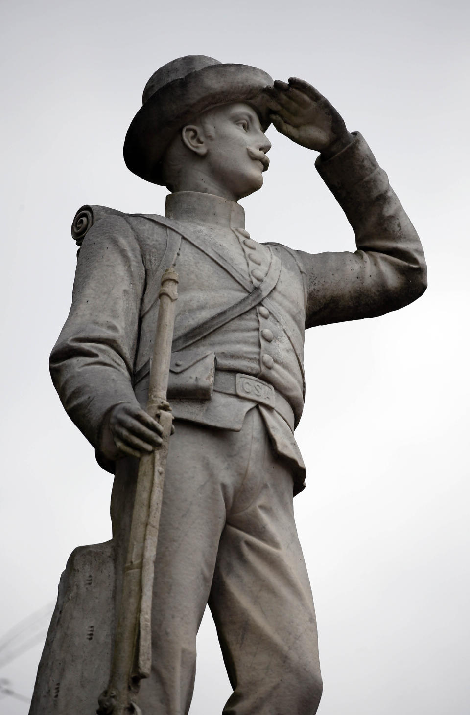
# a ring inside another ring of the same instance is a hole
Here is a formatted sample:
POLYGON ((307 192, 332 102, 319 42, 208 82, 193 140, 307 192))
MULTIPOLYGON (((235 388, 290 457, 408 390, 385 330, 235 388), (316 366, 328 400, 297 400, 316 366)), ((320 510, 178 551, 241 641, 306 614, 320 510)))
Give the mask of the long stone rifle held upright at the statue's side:
POLYGON ((98 715, 142 715, 135 699, 140 681, 150 675, 154 562, 173 421, 167 403, 167 387, 177 285, 177 272, 172 268, 165 270, 159 293, 160 305, 147 401, 147 413, 162 425, 162 444, 152 454, 142 456, 139 462, 111 674, 107 689, 98 699, 98 715))

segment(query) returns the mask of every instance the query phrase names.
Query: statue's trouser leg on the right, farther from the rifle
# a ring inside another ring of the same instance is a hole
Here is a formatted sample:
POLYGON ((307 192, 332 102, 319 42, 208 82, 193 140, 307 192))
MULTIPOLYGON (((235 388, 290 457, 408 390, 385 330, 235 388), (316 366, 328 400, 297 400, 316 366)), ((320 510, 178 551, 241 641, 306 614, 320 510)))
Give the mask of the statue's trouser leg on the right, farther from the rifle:
POLYGON ((258 433, 244 487, 227 512, 210 592, 234 689, 224 715, 313 715, 322 684, 293 482, 264 425, 258 433))

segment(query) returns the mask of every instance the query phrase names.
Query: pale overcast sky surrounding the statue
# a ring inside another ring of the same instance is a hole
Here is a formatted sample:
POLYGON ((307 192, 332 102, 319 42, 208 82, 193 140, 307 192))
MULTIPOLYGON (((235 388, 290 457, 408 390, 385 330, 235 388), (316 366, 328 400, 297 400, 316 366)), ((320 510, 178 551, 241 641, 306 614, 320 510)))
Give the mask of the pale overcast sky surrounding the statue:
MULTIPOLYGON (((77 208, 163 212, 122 142, 157 67, 184 54, 307 79, 359 129, 420 233, 429 290, 375 320, 310 331, 298 529, 318 616, 319 715, 466 715, 469 707, 468 4, 145 0, 3 7, 0 55, 4 478, 1 636, 55 601, 75 546, 110 536, 111 478, 62 410, 49 352, 72 290, 77 208)), ((271 128, 257 240, 353 250, 313 168, 271 128)), ((32 631, 30 631, 32 632, 32 631)), ((30 696, 41 644, 0 665, 30 696)), ((1 657, 5 651, 0 651, 1 657)), ((210 617, 191 715, 230 692, 210 617)), ((27 705, 1 699, 2 715, 27 705)), ((287 715, 287 714, 286 714, 287 715)))

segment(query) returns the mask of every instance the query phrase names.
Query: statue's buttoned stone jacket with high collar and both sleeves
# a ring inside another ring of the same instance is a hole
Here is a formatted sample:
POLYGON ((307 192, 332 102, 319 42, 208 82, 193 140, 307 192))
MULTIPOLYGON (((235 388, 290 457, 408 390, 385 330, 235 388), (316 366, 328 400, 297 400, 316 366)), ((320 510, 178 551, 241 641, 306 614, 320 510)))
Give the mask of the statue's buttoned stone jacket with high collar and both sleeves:
POLYGON ((175 262, 180 274, 175 340, 246 295, 237 275, 257 286, 277 271, 259 305, 175 352, 172 373, 180 388, 171 403, 177 418, 230 430, 240 430, 258 405, 301 488, 305 468, 293 430, 305 395, 305 327, 382 315, 426 287, 416 231, 361 135, 315 166, 353 227, 356 252, 309 254, 258 243, 245 230, 239 204, 194 192, 170 194, 163 223, 152 215, 108 215, 94 223, 79 252, 72 308, 52 350, 51 373, 67 413, 98 451, 109 410, 136 399, 145 404, 162 271, 175 262), (198 240, 224 260, 213 260, 198 240), (279 410, 250 400, 250 380, 237 394, 224 391, 220 373, 272 385, 279 410), (212 376, 207 395, 191 393, 195 374, 202 383, 212 376))

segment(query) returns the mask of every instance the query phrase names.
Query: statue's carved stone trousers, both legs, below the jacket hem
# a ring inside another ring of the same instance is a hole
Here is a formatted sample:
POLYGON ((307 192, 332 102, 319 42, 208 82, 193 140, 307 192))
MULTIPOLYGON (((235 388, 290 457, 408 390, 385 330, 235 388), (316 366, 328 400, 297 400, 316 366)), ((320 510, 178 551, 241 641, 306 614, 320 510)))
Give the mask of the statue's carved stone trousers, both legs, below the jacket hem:
MULTIPOLYGON (((133 483, 129 468, 117 473, 118 541, 133 483)), ((315 714, 318 640, 293 478, 258 408, 240 432, 175 421, 155 560, 152 674, 139 694, 145 715, 188 713, 207 602, 233 688, 223 715, 315 714)))

